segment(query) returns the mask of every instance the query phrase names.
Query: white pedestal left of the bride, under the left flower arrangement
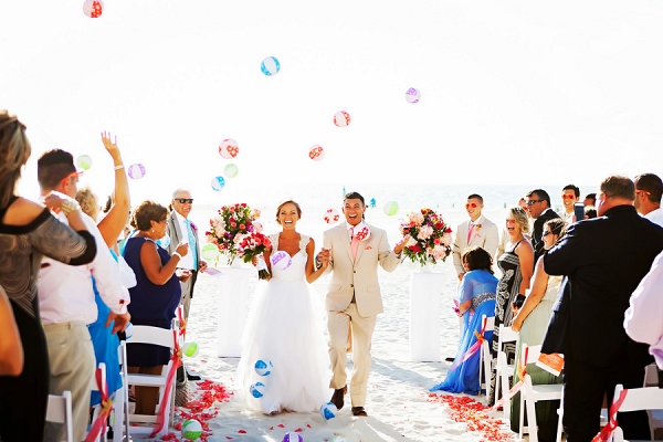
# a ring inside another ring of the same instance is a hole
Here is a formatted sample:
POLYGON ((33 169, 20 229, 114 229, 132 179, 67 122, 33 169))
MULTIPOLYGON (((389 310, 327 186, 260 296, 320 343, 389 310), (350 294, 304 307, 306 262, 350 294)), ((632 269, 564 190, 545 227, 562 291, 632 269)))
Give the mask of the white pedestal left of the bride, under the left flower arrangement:
POLYGON ((219 326, 217 355, 225 358, 242 356, 242 333, 246 324, 249 280, 253 269, 222 267, 219 277, 219 326))

